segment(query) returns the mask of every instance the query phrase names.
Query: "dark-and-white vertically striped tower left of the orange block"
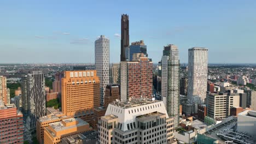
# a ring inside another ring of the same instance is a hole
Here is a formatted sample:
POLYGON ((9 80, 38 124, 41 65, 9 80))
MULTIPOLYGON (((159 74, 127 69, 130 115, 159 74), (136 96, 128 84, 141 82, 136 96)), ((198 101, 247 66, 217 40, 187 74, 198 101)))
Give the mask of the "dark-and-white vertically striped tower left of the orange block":
POLYGON ((46 115, 45 80, 43 71, 32 71, 23 78, 26 91, 22 96, 22 106, 26 105, 26 124, 29 130, 36 128, 37 119, 46 115))

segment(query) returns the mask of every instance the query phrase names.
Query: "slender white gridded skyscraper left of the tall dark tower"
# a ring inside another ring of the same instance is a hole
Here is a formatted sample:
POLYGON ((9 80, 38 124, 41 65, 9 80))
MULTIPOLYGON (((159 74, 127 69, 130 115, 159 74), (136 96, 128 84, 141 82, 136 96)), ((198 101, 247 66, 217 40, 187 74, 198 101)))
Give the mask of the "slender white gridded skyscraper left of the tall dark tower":
POLYGON ((104 35, 95 41, 95 67, 100 78, 101 106, 103 106, 105 88, 109 84, 109 39, 104 35))

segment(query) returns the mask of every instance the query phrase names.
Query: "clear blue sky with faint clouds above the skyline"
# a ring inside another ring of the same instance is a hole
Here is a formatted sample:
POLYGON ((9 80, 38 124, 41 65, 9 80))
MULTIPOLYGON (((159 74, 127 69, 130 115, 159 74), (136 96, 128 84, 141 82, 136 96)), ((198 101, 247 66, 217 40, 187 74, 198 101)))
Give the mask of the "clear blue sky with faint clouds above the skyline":
POLYGON ((144 40, 161 60, 167 44, 206 47, 209 63, 256 63, 256 1, 12 1, 0 2, 0 63, 94 63, 94 41, 110 40, 120 61, 121 14, 130 43, 144 40))

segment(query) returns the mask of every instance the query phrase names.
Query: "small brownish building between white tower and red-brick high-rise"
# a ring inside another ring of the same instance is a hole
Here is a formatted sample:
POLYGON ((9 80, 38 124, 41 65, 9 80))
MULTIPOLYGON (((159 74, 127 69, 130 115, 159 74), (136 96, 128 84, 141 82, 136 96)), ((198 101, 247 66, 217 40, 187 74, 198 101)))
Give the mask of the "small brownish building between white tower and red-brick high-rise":
POLYGON ((110 84, 120 84, 120 64, 119 63, 111 63, 109 65, 109 83, 110 84))

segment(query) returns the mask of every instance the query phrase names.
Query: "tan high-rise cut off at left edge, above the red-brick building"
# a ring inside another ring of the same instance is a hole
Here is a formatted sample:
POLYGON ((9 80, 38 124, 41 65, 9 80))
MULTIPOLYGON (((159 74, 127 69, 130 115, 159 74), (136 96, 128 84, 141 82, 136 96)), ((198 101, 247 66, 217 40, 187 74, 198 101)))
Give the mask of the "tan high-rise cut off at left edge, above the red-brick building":
POLYGON ((0 76, 0 100, 3 100, 5 105, 10 104, 10 89, 7 88, 5 76, 0 76))

